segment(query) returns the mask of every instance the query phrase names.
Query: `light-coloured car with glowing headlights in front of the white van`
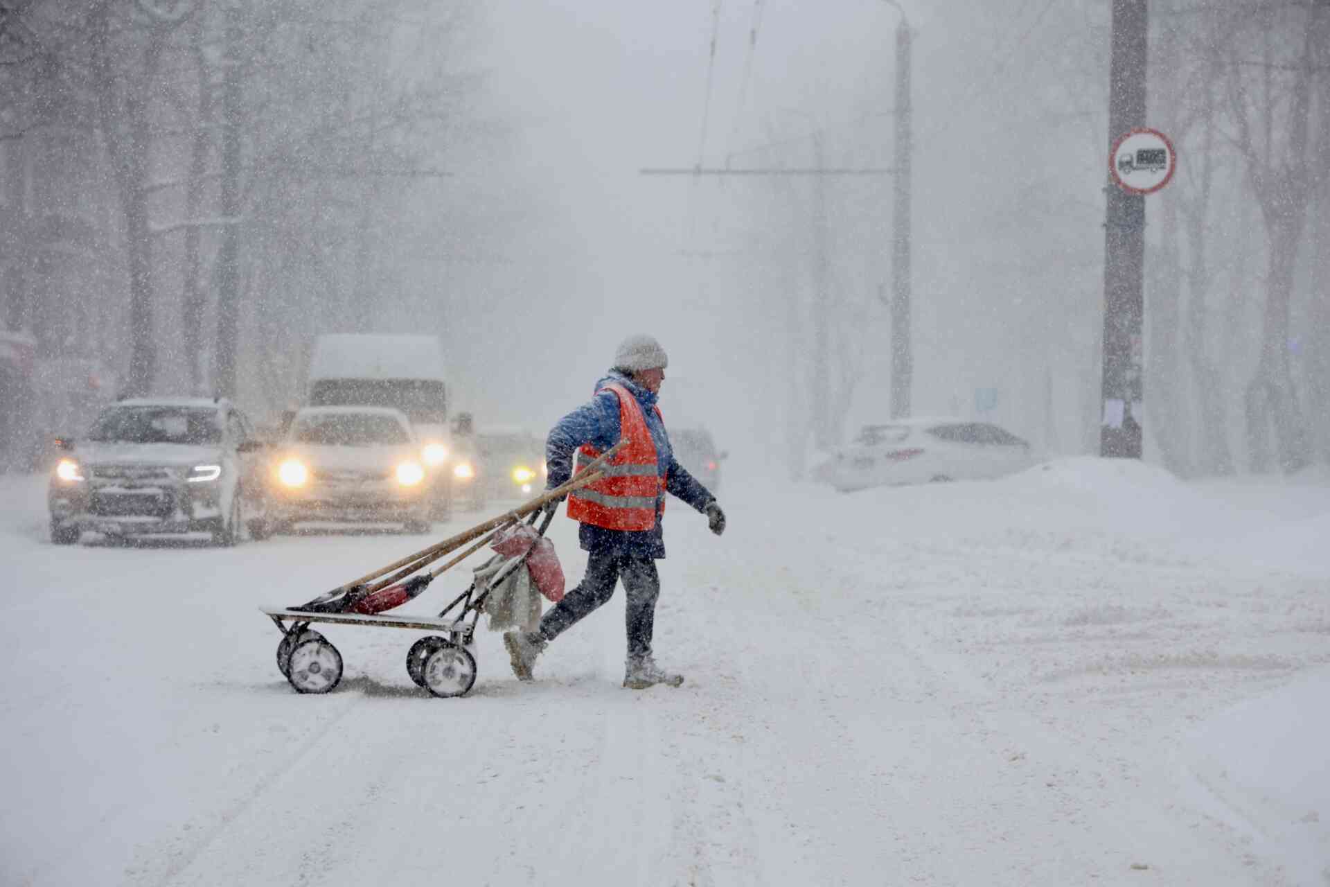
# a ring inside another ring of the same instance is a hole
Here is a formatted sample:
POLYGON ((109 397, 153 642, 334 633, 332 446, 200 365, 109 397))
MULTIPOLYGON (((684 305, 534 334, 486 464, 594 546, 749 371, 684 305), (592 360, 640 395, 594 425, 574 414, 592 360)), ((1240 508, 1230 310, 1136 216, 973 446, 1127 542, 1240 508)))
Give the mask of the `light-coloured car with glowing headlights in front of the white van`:
POLYGON ((394 523, 430 532, 420 442, 388 407, 305 407, 271 460, 269 529, 307 521, 394 523))

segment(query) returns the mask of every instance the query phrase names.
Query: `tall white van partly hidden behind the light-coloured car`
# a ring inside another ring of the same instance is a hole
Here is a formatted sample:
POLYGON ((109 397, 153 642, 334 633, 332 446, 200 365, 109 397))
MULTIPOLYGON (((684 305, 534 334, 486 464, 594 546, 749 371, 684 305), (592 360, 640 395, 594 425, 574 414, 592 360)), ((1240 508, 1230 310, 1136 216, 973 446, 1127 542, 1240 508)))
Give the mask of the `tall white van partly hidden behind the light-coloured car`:
POLYGON ((443 347, 432 335, 321 335, 310 358, 311 407, 392 407, 411 420, 432 472, 434 517, 452 508, 452 442, 443 347))

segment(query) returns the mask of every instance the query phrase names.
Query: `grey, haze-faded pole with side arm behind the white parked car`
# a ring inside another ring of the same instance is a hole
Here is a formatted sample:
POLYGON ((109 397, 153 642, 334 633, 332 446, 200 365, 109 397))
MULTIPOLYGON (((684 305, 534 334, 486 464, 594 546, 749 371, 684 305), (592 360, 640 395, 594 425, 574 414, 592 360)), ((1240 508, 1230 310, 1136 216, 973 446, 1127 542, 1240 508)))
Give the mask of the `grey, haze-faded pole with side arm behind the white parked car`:
MULTIPOLYGON (((898 7, 899 8, 899 7, 898 7)), ((914 352, 910 342, 910 25, 896 25, 896 158, 891 231, 891 418, 910 418, 914 352)))

